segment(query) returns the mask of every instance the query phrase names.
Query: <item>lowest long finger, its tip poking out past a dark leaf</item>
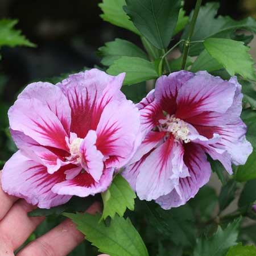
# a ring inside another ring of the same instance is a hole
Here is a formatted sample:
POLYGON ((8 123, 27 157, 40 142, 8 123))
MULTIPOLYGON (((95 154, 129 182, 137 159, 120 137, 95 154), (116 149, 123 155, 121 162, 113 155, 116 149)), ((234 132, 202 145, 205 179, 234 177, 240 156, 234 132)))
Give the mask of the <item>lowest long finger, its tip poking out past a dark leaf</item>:
MULTIPOLYGON (((100 209, 100 203, 94 203, 87 212, 94 214, 100 209)), ((71 220, 67 219, 42 237, 29 243, 17 256, 65 256, 82 241, 84 241, 84 234, 76 229, 76 225, 71 220)))

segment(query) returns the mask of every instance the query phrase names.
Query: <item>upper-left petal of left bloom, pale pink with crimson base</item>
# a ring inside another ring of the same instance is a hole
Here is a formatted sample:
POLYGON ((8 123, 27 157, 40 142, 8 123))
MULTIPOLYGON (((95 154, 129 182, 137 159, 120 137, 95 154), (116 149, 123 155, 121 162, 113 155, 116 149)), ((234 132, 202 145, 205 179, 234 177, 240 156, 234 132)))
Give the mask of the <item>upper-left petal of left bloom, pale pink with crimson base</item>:
POLYGON ((67 133, 49 108, 36 98, 20 98, 8 112, 10 129, 20 131, 43 146, 68 150, 67 133))

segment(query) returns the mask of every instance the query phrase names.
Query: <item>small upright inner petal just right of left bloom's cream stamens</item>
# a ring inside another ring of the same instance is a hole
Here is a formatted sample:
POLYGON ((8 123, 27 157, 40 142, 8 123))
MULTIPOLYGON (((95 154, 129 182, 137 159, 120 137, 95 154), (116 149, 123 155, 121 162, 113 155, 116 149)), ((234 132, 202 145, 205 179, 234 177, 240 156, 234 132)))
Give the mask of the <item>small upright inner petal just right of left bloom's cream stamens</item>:
POLYGON ((98 182, 104 168, 104 155, 102 155, 101 151, 97 150, 96 141, 96 131, 89 130, 81 143, 80 153, 82 154, 82 167, 98 182))

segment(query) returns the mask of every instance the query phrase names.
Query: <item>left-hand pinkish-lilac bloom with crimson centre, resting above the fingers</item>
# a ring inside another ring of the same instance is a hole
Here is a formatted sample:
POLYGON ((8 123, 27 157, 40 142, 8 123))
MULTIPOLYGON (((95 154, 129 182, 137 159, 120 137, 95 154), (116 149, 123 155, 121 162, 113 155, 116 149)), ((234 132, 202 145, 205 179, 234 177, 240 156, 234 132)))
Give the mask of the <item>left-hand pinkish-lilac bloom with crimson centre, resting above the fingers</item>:
POLYGON ((19 150, 3 168, 3 190, 40 208, 105 191, 141 143, 124 77, 92 69, 28 85, 8 113, 19 150))

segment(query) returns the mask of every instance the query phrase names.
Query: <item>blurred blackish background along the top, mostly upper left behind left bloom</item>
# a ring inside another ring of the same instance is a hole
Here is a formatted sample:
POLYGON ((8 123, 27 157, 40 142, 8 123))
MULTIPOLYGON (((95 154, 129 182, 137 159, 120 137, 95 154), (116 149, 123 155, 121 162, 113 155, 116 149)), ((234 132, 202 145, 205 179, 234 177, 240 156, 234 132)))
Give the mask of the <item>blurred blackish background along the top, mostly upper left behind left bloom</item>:
MULTIPOLYGON (((138 36, 100 18, 101 10, 98 7, 100 2, 100 0, 0 0, 0 19, 18 19, 19 23, 15 28, 22 30, 23 34, 37 45, 36 48, 1 48, 0 84, 2 81, 5 86, 2 86, 0 99, 0 126, 8 126, 7 118, 3 118, 6 117, 7 109, 15 100, 19 90, 31 81, 80 71, 85 66, 100 65, 100 57, 97 56, 98 47, 117 37, 141 46, 138 36)), ((184 9, 187 14, 193 9, 195 2, 195 0, 185 1, 184 9)), ((203 1, 205 2, 209 1, 203 1)), ((217 2, 220 2, 221 15, 229 15, 234 19, 256 15, 256 0, 217 2)), ((0 148, 1 141, 5 137, 1 133, 6 134, 7 131, 0 131, 0 148)), ((10 144, 8 150, 0 150, 0 161, 9 158, 13 146, 10 144)))

